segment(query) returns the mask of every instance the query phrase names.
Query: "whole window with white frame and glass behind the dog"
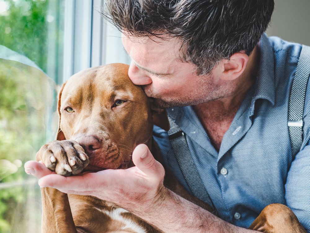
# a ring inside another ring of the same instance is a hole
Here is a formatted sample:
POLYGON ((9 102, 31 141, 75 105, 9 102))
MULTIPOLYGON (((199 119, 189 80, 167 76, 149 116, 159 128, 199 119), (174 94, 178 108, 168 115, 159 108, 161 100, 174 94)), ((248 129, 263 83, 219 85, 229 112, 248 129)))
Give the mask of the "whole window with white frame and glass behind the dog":
POLYGON ((60 84, 91 66, 129 63, 101 6, 0 0, 0 232, 41 232, 38 180, 23 164, 55 138, 60 84))

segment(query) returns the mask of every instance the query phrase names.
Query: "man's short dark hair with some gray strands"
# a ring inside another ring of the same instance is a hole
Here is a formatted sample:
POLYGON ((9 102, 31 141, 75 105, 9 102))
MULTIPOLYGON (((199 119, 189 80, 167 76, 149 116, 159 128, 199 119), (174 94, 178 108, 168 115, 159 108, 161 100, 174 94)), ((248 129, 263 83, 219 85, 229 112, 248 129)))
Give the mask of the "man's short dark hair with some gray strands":
POLYGON ((267 29, 273 0, 107 0, 119 30, 133 36, 178 37, 179 58, 209 73, 233 53, 250 54, 267 29))

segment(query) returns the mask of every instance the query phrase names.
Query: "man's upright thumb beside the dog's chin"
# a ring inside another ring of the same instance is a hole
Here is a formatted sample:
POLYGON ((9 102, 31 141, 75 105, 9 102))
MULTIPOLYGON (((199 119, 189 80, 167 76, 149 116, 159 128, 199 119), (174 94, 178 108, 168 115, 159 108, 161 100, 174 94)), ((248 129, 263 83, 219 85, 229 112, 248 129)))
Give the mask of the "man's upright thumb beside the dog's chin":
POLYGON ((162 178, 165 170, 163 166, 154 159, 147 145, 139 144, 132 153, 132 161, 140 171, 147 176, 162 178))

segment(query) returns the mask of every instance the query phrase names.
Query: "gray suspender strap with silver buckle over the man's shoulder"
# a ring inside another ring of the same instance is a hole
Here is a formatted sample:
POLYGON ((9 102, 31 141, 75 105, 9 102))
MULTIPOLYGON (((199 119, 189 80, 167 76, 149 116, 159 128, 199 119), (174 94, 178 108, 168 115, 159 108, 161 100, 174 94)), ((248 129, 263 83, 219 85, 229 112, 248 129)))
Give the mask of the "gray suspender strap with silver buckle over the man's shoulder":
POLYGON ((288 108, 287 125, 292 147, 292 160, 299 152, 303 142, 303 107, 309 74, 310 47, 303 45, 290 91, 288 108))

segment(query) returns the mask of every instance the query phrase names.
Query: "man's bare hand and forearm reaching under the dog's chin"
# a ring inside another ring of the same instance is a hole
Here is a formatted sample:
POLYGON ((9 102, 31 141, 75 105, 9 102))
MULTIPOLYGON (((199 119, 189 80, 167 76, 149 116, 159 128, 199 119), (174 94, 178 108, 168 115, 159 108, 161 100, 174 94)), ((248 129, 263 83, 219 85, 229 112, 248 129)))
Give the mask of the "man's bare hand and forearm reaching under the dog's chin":
POLYGON ((252 232, 233 226, 212 213, 179 197, 163 185, 165 171, 148 147, 138 145, 132 153, 135 167, 61 176, 43 162, 25 163, 25 171, 39 178, 41 187, 64 193, 92 195, 127 209, 163 232, 252 232))

